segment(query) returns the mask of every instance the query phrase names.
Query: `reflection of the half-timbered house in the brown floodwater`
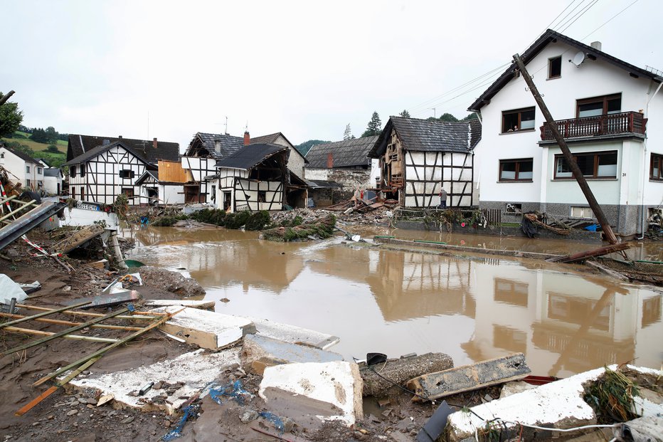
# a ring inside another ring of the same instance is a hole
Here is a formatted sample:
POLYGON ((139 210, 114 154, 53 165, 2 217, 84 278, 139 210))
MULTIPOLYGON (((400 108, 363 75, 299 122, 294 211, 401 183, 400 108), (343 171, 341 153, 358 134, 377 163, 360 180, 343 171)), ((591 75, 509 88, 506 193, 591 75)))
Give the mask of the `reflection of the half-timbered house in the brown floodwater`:
POLYGON ((319 273, 368 283, 389 322, 459 313, 474 316, 469 260, 333 247, 324 250, 323 260, 309 265, 319 273))

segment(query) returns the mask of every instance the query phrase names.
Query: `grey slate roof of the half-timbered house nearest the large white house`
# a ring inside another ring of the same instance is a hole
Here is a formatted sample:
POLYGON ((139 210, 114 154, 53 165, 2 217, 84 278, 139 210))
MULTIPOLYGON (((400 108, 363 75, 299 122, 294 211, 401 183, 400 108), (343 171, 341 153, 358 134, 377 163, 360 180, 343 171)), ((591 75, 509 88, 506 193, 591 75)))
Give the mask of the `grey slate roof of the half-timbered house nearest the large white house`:
POLYGON ((368 157, 378 158, 387 149, 391 129, 396 130, 403 149, 428 152, 470 152, 481 140, 479 120, 443 122, 418 118, 389 117, 368 157))

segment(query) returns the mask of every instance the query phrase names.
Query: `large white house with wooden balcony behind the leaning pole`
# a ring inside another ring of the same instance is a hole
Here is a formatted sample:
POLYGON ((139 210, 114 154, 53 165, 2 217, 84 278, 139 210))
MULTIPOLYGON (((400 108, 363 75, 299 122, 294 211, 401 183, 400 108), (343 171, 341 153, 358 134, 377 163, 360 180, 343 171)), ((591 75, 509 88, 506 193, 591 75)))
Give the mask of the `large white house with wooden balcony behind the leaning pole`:
MULTIPOLYGON (((615 233, 641 235, 663 201, 663 78, 548 29, 521 58, 615 233)), ((479 206, 593 219, 541 110, 512 64, 470 106, 479 206)), ((504 218, 503 218, 504 219, 504 218)))

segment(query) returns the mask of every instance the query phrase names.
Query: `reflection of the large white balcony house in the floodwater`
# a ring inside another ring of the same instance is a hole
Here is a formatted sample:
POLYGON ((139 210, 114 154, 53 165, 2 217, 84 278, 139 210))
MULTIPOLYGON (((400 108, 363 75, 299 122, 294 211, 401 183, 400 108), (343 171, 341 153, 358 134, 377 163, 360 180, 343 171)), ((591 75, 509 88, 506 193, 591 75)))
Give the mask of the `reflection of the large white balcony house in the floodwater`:
POLYGON ((516 266, 474 270, 477 327, 463 346, 472 359, 525 352, 537 374, 561 377, 636 357, 657 364, 655 341, 637 336, 660 331, 662 295, 516 266))

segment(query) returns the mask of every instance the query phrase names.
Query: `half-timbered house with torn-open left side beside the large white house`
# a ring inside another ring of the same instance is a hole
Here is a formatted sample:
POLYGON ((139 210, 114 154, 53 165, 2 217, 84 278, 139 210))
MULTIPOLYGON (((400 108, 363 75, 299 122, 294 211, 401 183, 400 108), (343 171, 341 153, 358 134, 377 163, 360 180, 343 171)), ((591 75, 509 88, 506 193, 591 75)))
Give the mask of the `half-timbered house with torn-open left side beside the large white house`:
POLYGON ((378 188, 401 206, 470 207, 478 202, 473 151, 480 139, 478 120, 390 117, 368 157, 379 159, 378 188))

